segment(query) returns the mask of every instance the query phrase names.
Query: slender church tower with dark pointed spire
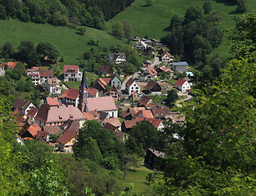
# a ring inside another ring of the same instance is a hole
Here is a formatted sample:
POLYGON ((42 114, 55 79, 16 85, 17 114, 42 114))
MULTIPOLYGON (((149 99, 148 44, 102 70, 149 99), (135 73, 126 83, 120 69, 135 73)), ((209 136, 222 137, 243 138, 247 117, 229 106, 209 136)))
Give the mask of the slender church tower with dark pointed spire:
POLYGON ((88 99, 88 82, 86 78, 85 70, 83 69, 83 78, 79 87, 79 109, 84 112, 86 102, 88 99))

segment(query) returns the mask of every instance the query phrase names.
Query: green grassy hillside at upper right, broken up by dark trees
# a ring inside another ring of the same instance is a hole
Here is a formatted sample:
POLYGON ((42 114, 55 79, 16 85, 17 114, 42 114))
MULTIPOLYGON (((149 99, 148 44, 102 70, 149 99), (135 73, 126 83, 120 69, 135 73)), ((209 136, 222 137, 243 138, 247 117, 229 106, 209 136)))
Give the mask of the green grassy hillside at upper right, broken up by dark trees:
MULTIPOLYGON (((247 0, 247 12, 255 12, 256 4, 254 0, 247 0)), ((128 20, 133 25, 134 35, 145 36, 150 38, 162 38, 168 33, 168 25, 174 14, 183 17, 187 7, 197 6, 203 7, 204 1, 201 0, 155 0, 153 6, 146 7, 145 0, 137 0, 132 3, 131 7, 126 8, 113 19, 108 25, 115 20, 128 20)), ((222 23, 219 25, 221 29, 231 28, 235 25, 236 5, 232 5, 227 0, 211 1, 212 11, 220 11, 222 15, 222 23)), ((228 48, 225 45, 224 38, 222 44, 214 51, 221 53, 224 58, 229 55, 228 48)))

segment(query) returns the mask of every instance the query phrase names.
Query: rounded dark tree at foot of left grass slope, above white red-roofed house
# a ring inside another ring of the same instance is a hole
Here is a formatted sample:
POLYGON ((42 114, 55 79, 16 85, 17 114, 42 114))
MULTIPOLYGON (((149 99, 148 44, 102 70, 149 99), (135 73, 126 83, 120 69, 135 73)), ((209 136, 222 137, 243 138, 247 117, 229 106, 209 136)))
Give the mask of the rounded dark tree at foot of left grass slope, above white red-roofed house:
POLYGON ((52 43, 49 42, 42 42, 39 43, 36 47, 37 53, 40 56, 40 58, 43 60, 46 56, 49 59, 57 60, 57 58, 60 56, 60 52, 52 45, 52 43))

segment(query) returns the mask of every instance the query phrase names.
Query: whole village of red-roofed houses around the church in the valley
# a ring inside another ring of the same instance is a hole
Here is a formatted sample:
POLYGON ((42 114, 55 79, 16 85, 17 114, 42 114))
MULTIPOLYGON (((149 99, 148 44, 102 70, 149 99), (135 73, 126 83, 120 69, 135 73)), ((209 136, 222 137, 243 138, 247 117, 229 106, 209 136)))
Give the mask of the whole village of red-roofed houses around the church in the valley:
MULTIPOLYGON (((133 48, 138 52, 160 45, 154 39, 134 39, 136 43, 133 48)), ((122 142, 127 140, 132 127, 141 121, 150 122, 158 131, 164 129, 165 121, 184 123, 186 117, 173 107, 168 107, 166 101, 156 102, 152 97, 166 98, 168 91, 174 89, 179 97, 176 106, 181 106, 182 101, 191 98, 189 92, 192 83, 189 78, 193 73, 188 71, 186 61, 175 62, 174 56, 168 51, 164 50, 161 55, 155 55, 155 49, 152 51, 154 60, 144 62, 141 71, 123 78, 123 82, 114 69, 103 65, 92 87, 88 86, 88 73, 84 69, 80 71, 79 65, 64 65, 62 80, 54 78, 51 69, 26 69, 35 88, 41 92, 48 91, 49 96, 41 101, 39 108, 30 100, 16 99, 13 115, 20 127, 16 140, 22 145, 24 140, 39 140, 52 145, 56 152, 70 154, 78 141, 79 128, 88 120, 100 122, 103 128, 113 131, 122 142), (161 77, 163 74, 165 78, 161 77), (177 78, 179 75, 185 77, 177 78), (172 79, 173 83, 168 79, 172 79), (79 89, 67 87, 65 82, 79 82, 79 89)), ((126 56, 124 53, 111 53, 107 60, 121 65, 126 61, 126 56)), ((8 67, 14 69, 16 63, 9 62, 8 67)), ((157 149, 148 152, 164 158, 164 153, 157 149)))

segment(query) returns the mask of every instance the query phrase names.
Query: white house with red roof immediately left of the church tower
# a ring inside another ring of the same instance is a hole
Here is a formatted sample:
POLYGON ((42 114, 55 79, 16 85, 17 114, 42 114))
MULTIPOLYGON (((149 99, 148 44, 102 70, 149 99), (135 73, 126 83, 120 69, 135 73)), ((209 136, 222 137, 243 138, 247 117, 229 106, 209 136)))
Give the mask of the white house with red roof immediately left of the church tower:
POLYGON ((60 96, 62 103, 66 105, 74 105, 75 107, 79 106, 79 90, 70 88, 66 89, 65 92, 60 96))

